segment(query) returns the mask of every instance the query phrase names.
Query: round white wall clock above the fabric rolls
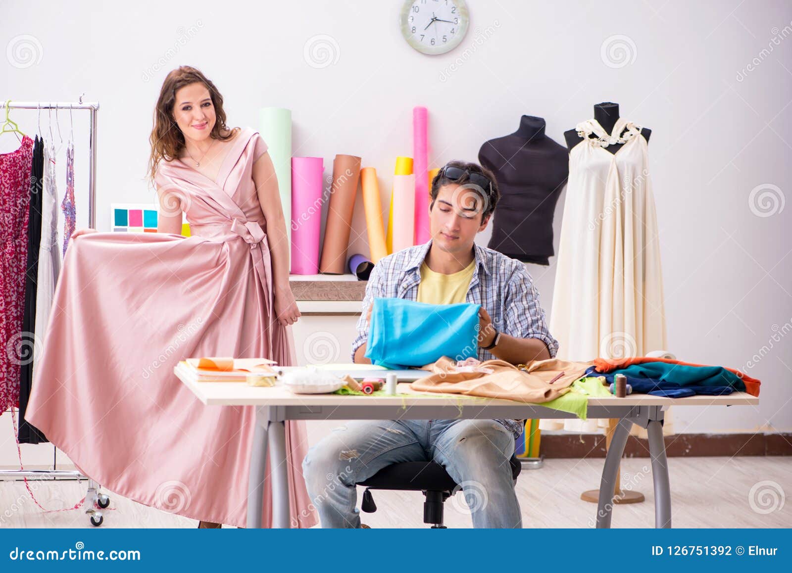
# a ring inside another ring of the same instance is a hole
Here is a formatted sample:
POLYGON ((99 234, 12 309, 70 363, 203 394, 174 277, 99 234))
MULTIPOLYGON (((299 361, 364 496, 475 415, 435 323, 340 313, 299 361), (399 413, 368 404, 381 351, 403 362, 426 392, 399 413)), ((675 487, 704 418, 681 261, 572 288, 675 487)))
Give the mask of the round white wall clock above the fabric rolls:
POLYGON ((464 0, 406 0, 400 17, 407 44, 429 55, 459 46, 469 21, 464 0))

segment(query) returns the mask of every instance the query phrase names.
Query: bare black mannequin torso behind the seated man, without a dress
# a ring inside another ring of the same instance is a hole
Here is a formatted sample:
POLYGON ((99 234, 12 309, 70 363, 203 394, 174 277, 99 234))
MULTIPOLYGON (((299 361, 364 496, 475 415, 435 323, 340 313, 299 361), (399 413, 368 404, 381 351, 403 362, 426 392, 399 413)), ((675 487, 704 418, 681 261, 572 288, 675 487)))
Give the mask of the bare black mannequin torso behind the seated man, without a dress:
POLYGON ((541 117, 522 116, 517 131, 484 143, 478 161, 495 173, 501 189, 489 249, 550 264, 555 204, 569 175, 565 148, 545 135, 541 117))

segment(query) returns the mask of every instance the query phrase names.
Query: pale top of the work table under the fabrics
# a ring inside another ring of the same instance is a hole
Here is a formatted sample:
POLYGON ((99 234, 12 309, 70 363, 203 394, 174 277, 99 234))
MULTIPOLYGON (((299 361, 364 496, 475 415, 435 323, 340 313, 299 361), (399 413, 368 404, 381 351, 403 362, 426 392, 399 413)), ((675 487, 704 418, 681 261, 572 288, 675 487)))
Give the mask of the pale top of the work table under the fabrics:
MULTIPOLYGON (((186 377, 179 368, 174 373, 204 404, 210 406, 459 406, 474 404, 513 406, 515 400, 463 396, 462 394, 439 394, 417 392, 409 388, 409 382, 398 384, 397 396, 356 396, 341 394, 294 394, 284 385, 270 387, 249 386, 246 382, 196 382, 186 377)), ((351 372, 350 374, 355 374, 351 372)), ((744 392, 728 396, 691 396, 687 398, 663 398, 649 394, 630 394, 626 398, 589 398, 589 406, 737 406, 757 405, 759 398, 744 392)), ((539 404, 541 405, 541 404, 539 404)))

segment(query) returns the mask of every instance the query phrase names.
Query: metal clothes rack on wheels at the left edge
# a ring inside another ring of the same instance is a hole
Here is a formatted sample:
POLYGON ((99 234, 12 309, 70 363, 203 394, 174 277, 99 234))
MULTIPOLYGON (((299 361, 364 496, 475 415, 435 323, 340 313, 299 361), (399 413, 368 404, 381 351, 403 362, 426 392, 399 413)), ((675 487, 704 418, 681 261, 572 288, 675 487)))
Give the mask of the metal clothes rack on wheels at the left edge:
MULTIPOLYGON (((96 228, 96 174, 97 174, 97 112, 99 102, 97 101, 0 101, 2 109, 87 109, 90 112, 90 138, 89 138, 89 163, 88 163, 88 221, 89 227, 96 228)), ((89 514, 90 522, 94 526, 101 526, 104 516, 101 509, 110 505, 107 495, 100 493, 101 486, 82 473, 75 470, 28 470, 28 469, 0 469, 0 480, 29 478, 35 480, 69 478, 76 480, 88 480, 88 491, 86 499, 82 503, 86 514, 89 514)))

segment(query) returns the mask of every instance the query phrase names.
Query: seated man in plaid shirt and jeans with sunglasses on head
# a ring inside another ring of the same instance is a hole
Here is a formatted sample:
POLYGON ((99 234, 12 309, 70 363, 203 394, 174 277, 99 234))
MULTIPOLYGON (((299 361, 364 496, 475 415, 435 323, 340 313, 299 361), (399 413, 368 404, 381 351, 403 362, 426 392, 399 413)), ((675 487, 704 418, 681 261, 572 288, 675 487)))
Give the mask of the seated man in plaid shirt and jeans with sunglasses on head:
MULTIPOLYGON (((432 180, 431 195, 432 239, 384 257, 371 271, 352 344, 354 361, 370 362, 365 353, 371 303, 383 297, 482 305, 480 360, 520 364, 554 357, 558 343, 524 264, 474 244, 500 197, 493 174, 451 161, 432 180)), ((356 420, 310 448, 303 474, 322 527, 360 527, 355 484, 380 469, 436 461, 463 486, 474 527, 520 528, 508 460, 521 431, 521 421, 512 419, 356 420)))

